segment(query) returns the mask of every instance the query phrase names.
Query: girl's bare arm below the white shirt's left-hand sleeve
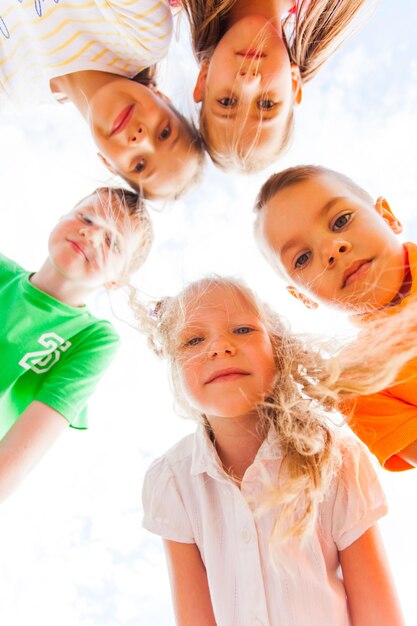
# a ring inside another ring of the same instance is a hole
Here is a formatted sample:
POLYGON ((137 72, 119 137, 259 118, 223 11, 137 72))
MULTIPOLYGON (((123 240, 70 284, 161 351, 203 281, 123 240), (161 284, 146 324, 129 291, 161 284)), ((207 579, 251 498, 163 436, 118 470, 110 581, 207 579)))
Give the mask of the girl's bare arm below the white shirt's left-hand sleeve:
POLYGON ((195 543, 164 541, 177 626, 216 626, 206 568, 195 543))

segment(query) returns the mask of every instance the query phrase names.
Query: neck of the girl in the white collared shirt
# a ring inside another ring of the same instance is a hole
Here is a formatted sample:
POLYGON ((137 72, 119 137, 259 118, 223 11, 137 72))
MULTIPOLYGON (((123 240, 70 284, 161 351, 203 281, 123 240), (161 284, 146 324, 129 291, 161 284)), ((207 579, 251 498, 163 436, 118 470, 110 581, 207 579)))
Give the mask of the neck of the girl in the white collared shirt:
POLYGON ((208 418, 214 445, 225 471, 239 484, 261 447, 259 418, 249 414, 238 418, 208 418))

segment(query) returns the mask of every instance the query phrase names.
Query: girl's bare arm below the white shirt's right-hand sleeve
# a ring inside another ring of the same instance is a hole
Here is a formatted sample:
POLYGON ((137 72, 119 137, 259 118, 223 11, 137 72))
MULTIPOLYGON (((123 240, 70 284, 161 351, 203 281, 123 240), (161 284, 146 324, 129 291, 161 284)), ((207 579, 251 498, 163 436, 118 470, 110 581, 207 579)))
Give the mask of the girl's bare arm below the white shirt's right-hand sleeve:
POLYGON ((376 526, 339 552, 352 626, 405 626, 376 526))

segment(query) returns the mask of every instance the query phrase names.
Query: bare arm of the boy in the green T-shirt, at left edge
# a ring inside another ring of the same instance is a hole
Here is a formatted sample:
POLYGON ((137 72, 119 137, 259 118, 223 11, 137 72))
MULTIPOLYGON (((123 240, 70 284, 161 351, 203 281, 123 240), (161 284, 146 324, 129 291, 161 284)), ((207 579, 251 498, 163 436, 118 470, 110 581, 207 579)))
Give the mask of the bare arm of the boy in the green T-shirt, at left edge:
POLYGON ((0 502, 41 460, 68 426, 58 411, 35 400, 0 441, 0 502))

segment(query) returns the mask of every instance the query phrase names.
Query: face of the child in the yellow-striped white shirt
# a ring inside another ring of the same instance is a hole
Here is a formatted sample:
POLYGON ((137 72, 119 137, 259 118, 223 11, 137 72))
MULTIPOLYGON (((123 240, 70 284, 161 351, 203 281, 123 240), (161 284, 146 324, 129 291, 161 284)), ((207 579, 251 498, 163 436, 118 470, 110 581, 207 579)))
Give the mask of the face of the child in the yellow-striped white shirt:
POLYGON ((161 94, 126 78, 100 88, 88 122, 106 166, 148 198, 179 193, 198 168, 184 123, 161 94))

